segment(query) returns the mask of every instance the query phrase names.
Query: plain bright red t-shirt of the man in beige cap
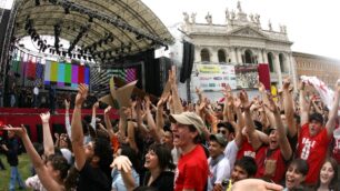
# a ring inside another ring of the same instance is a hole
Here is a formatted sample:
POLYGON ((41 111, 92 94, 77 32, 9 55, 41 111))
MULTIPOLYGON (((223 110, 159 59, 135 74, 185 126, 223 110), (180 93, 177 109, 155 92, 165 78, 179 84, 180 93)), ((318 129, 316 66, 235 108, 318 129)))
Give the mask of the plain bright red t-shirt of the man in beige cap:
POLYGON ((181 155, 174 174, 174 190, 194 189, 203 191, 209 174, 208 160, 201 145, 181 155))

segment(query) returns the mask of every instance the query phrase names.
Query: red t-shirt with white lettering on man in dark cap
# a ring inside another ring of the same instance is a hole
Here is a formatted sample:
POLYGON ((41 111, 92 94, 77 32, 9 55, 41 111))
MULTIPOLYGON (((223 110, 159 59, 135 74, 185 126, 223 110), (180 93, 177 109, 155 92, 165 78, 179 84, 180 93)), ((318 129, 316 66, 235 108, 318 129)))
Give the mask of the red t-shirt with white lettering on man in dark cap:
POLYGON ((304 180, 306 183, 317 183, 329 144, 330 139, 327 135, 326 128, 323 128, 317 135, 311 137, 309 133, 309 123, 301 127, 297 158, 307 160, 309 165, 309 171, 304 180))

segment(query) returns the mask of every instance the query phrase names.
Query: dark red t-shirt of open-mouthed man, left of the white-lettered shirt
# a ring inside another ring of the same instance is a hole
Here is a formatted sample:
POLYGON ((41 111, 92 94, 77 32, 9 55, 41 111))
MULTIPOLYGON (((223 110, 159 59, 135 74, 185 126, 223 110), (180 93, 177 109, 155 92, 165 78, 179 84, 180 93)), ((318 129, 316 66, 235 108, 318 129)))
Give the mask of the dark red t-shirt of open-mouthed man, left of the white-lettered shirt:
POLYGON ((283 157, 281 154, 281 150, 280 148, 271 151, 271 154, 269 157, 267 157, 267 152, 269 150, 269 147, 266 147, 266 149, 263 150, 264 152, 261 152, 261 154, 264 154, 264 161, 261 162, 261 165, 259 167, 259 170, 257 172, 256 178, 263 178, 264 177, 264 172, 266 172, 266 161, 267 160, 274 160, 277 163, 277 169, 276 172, 272 177, 270 177, 270 179, 272 181, 274 181, 276 183, 281 183, 283 177, 284 177, 284 172, 286 172, 286 162, 283 160, 283 157))

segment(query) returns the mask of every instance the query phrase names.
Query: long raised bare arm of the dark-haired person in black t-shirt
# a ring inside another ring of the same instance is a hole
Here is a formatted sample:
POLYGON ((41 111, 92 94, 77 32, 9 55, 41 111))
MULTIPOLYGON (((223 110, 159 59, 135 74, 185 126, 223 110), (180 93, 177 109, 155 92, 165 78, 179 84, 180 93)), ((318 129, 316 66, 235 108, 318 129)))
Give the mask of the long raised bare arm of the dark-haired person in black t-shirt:
POLYGON ((83 148, 83 132, 81 124, 81 105, 88 96, 88 87, 83 83, 79 84, 78 93, 74 101, 74 110, 72 115, 72 150, 74 153, 76 168, 80 171, 86 163, 86 153, 83 148))

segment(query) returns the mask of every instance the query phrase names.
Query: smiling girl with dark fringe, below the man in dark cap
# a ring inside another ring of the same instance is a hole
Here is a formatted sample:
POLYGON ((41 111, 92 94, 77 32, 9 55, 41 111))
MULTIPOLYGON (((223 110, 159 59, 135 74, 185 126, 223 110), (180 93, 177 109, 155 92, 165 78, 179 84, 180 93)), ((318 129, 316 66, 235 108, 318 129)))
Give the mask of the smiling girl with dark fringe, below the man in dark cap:
POLYGON ((293 160, 286 172, 286 189, 283 191, 303 190, 302 183, 308 173, 308 163, 302 159, 293 160))

